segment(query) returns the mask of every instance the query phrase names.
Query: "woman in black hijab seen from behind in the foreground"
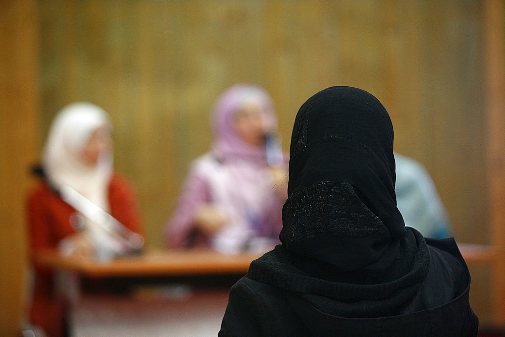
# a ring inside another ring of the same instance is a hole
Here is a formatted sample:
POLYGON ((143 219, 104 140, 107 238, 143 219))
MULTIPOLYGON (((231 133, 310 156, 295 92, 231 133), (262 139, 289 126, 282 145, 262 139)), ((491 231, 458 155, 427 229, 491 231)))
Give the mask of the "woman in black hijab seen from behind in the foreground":
POLYGON ((282 244, 231 289, 220 335, 477 335, 453 239, 396 208, 393 127, 370 93, 337 86, 299 109, 282 244))

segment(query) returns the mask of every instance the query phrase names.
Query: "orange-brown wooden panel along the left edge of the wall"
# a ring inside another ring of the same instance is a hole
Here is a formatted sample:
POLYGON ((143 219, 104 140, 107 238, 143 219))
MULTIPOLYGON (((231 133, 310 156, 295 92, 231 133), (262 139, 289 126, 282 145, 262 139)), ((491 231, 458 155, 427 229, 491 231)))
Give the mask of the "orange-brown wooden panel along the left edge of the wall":
POLYGON ((28 297, 25 193, 37 152, 38 16, 31 0, 0 2, 0 335, 21 332, 28 297))

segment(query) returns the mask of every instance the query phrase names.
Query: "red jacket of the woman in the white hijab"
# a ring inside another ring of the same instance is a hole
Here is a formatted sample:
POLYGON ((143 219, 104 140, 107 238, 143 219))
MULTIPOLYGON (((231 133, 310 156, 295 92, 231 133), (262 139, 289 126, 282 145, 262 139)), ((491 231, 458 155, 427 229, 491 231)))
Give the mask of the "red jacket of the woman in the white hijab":
MULTIPOLYGON (((131 231, 143 234, 137 200, 130 184, 115 173, 109 184, 110 213, 131 231)), ((57 249, 65 237, 75 234, 70 216, 75 209, 45 183, 41 182, 28 197, 28 236, 31 252, 57 249)), ((53 272, 35 267, 30 318, 48 335, 62 335, 65 325, 65 300, 54 294, 53 272)))

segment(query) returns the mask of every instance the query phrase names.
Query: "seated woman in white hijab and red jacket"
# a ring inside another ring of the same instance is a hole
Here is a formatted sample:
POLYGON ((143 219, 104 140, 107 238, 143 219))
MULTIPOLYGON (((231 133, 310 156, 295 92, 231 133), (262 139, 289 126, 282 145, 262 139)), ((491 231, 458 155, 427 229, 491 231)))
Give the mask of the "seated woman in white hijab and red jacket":
MULTIPOLYGON (((133 190, 113 169, 111 132, 106 112, 90 103, 68 105, 54 120, 42 166, 36 171, 41 181, 28 197, 32 254, 60 249, 64 254, 97 256, 107 252, 111 256, 131 250, 124 240, 125 234, 141 239, 141 220, 133 190), (75 200, 69 200, 67 190, 73 192, 73 199, 77 195, 87 200, 88 208, 92 205, 93 210, 101 209, 117 219, 119 223, 114 222, 113 232, 94 221, 92 214, 81 212, 75 200), (115 233, 115 229, 119 232, 115 233)), ((66 324, 66 299, 56 288, 55 272, 34 266, 31 322, 51 336, 63 335, 66 324)))

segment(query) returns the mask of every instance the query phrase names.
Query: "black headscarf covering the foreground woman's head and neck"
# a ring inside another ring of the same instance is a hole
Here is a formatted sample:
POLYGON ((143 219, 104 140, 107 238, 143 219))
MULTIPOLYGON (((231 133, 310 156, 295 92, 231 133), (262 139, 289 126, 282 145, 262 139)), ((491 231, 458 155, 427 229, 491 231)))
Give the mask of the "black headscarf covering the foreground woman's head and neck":
POLYGON ((281 242, 339 271, 383 272, 408 235, 394 182, 393 127, 379 100, 345 86, 318 92, 294 123, 281 242))

